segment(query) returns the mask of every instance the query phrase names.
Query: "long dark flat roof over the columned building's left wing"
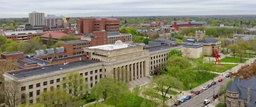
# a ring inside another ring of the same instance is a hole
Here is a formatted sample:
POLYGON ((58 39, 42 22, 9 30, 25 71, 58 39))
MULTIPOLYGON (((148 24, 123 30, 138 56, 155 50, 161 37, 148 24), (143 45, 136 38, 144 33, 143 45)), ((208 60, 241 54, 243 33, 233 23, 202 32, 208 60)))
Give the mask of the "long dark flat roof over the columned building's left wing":
POLYGON ((23 69, 19 71, 13 71, 13 72, 7 72, 10 75, 16 77, 16 78, 22 78, 22 77, 30 77, 30 76, 35 76, 35 75, 41 75, 43 73, 49 73, 53 71, 59 71, 60 68, 62 70, 70 69, 70 68, 77 68, 79 66, 85 66, 86 64, 92 64, 92 63, 97 63, 97 61, 78 61, 78 62, 73 62, 69 63, 67 65, 51 65, 49 67, 41 67, 41 68, 35 68, 35 69, 23 69), (13 75, 14 74, 14 75, 13 75))

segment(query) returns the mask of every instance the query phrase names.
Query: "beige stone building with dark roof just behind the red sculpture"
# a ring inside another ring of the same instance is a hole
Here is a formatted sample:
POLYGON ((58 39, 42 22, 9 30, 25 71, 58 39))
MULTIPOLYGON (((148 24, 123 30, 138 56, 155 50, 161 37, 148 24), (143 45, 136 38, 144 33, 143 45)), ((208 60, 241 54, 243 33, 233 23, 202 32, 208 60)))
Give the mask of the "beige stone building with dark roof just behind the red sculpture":
POLYGON ((215 38, 198 40, 196 43, 203 45, 205 56, 214 56, 213 49, 217 50, 217 53, 221 53, 221 42, 215 38))

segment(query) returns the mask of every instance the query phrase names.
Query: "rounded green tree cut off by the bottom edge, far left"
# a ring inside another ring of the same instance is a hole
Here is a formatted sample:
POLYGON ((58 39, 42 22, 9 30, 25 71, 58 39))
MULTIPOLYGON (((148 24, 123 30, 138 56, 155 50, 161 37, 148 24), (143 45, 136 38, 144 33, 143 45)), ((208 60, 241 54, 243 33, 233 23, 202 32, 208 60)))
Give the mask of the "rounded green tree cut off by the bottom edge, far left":
POLYGON ((49 107, 68 107, 67 105, 71 102, 71 99, 65 90, 52 89, 40 95, 39 103, 49 107))

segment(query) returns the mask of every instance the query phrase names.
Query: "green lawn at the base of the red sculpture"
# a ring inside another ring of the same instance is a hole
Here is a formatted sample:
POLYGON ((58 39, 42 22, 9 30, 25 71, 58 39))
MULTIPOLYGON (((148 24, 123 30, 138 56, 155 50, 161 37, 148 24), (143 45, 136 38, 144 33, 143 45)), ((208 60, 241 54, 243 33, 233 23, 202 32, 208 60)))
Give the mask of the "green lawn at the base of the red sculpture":
MULTIPOLYGON (((217 65, 217 64, 216 64, 217 65)), ((213 64, 213 66, 210 68, 213 72, 225 72, 233 67, 236 67, 238 64, 222 64, 222 67, 217 67, 213 64)))

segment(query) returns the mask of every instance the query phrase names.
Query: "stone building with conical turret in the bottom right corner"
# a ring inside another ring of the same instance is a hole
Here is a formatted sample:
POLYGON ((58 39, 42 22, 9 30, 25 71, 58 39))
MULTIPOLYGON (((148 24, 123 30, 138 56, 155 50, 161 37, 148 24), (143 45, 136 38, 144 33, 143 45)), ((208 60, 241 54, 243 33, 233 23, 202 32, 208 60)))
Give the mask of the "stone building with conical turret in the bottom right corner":
POLYGON ((256 77, 251 79, 235 78, 228 85, 226 105, 227 107, 255 107, 256 106, 256 77))

